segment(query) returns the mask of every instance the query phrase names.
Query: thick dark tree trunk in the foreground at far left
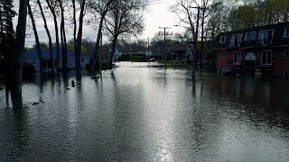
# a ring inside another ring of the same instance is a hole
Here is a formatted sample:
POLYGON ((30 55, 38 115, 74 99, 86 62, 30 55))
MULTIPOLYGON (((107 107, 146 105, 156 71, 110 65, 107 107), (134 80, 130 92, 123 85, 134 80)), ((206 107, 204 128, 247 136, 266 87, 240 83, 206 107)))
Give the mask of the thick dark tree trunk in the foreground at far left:
MULTIPOLYGON (((10 63, 10 83, 11 98, 22 99, 22 70, 23 70, 23 52, 25 45, 25 31, 28 0, 22 0, 19 3, 18 23, 16 26, 16 49, 12 53, 12 60, 10 63)), ((22 103, 21 103, 22 104, 22 103)), ((18 106, 18 105, 17 105, 18 106)), ((21 106, 21 105, 19 105, 21 106)))

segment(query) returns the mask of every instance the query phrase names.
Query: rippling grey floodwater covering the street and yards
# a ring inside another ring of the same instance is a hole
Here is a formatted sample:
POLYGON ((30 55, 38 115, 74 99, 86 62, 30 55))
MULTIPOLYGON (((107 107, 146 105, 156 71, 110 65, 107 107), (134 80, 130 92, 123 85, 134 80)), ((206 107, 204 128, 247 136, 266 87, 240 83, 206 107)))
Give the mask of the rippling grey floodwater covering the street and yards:
POLYGON ((284 80, 119 66, 0 91, 0 161, 289 161, 284 80))

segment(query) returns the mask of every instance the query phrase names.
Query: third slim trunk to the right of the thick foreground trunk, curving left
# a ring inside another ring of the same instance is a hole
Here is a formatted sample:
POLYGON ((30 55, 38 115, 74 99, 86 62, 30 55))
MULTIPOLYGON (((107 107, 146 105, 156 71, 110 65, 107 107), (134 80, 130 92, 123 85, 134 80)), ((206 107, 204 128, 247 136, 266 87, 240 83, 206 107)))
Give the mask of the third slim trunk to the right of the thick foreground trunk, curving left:
POLYGON ((48 7, 51 10, 51 14, 53 15, 53 21, 54 21, 54 29, 55 29, 55 40, 56 40, 56 70, 59 70, 59 64, 60 64, 60 58, 61 58, 61 52, 60 52, 60 39, 59 39, 59 33, 58 33, 58 23, 57 23, 57 16, 55 13, 55 10, 51 6, 49 0, 46 0, 46 3, 48 4, 48 7))

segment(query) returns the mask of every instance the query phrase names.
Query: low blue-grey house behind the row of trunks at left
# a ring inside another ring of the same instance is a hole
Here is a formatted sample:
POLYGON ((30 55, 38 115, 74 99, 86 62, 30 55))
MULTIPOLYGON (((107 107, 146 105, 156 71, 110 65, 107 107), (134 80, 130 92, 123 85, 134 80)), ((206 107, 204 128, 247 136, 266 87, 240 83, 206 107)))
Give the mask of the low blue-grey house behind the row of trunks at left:
MULTIPOLYGON (((24 62, 33 64, 36 71, 40 71, 40 64, 42 62, 43 71, 51 71, 52 68, 55 69, 57 64, 56 49, 52 49, 53 58, 51 59, 50 49, 42 49, 42 61, 38 57, 37 49, 26 50, 23 56, 24 62)), ((67 67, 73 69, 75 68, 75 54, 74 51, 67 51, 67 67)), ((80 65, 81 68, 85 68, 89 64, 89 56, 87 54, 81 53, 80 65)), ((62 67, 62 53, 60 55, 60 67, 62 67)))

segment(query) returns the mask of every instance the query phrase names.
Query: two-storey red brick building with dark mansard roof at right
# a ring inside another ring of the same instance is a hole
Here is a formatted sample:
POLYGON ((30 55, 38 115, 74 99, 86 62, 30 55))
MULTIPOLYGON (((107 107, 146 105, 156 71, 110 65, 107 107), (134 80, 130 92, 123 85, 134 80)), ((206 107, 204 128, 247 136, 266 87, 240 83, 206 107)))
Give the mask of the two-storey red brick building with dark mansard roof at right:
POLYGON ((289 23, 221 32, 213 49, 218 71, 289 76, 289 23))

